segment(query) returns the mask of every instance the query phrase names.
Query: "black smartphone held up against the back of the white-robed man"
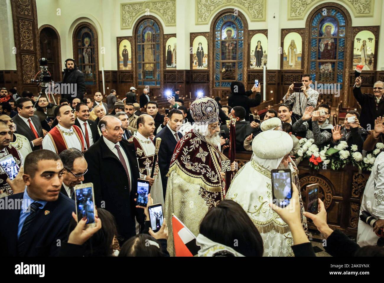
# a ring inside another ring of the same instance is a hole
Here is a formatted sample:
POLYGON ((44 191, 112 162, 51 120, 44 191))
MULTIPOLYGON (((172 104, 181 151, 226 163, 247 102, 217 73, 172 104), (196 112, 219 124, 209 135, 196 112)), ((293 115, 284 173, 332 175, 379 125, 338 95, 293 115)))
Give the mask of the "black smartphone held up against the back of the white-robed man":
POLYGON ((273 169, 272 174, 272 195, 273 203, 285 207, 292 198, 292 176, 290 169, 273 169))

